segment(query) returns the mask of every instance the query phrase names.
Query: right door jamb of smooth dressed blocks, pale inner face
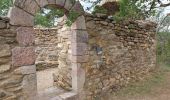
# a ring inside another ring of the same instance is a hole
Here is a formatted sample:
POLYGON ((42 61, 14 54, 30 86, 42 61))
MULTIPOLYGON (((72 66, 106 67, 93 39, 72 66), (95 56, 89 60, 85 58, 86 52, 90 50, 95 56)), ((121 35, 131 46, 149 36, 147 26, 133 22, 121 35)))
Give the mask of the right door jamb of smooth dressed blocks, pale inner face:
POLYGON ((88 33, 86 31, 84 16, 78 17, 77 20, 72 24, 71 29, 72 89, 81 95, 83 93, 83 87, 85 83, 85 70, 83 64, 88 60, 88 33))

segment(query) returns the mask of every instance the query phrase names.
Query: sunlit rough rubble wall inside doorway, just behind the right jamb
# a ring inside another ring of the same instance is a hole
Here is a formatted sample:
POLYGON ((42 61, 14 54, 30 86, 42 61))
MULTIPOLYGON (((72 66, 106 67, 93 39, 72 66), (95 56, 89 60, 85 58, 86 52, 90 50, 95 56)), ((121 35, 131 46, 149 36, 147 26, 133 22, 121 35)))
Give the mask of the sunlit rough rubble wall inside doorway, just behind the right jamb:
POLYGON ((71 90, 71 28, 65 24, 66 17, 58 20, 58 71, 53 75, 54 84, 71 90))

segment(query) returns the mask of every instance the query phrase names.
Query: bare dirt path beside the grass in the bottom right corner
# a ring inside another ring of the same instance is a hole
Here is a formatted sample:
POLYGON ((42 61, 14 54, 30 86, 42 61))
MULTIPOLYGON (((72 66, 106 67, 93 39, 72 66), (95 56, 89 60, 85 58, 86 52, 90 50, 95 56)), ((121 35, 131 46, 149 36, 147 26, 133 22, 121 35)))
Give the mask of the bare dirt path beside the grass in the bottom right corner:
MULTIPOLYGON (((153 86, 146 85, 145 88, 148 88, 148 90, 150 90, 149 92, 126 96, 118 95, 113 96, 111 99, 108 100, 170 100, 170 71, 165 71, 163 74, 164 75, 158 76, 162 78, 162 80, 153 80, 153 83, 155 81, 153 86)), ((126 92, 128 93, 128 91, 126 92)))

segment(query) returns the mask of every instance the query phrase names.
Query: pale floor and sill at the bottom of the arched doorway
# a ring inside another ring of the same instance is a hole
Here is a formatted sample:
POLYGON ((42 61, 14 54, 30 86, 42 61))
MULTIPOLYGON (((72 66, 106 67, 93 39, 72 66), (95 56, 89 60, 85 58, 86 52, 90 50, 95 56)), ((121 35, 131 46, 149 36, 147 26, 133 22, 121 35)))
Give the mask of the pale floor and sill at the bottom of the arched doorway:
POLYGON ((52 98, 66 92, 61 88, 53 86, 53 73, 56 72, 57 68, 37 71, 38 95, 36 100, 51 100, 52 98))

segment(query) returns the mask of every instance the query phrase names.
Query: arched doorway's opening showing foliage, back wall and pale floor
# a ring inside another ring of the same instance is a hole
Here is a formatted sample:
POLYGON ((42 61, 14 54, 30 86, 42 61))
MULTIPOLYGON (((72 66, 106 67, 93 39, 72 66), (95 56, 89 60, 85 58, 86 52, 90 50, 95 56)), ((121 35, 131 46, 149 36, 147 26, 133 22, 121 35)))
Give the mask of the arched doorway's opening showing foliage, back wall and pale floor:
POLYGON ((57 18, 63 16, 55 6, 42 8, 35 17, 36 74, 38 92, 54 88, 53 74, 58 68, 57 18))

